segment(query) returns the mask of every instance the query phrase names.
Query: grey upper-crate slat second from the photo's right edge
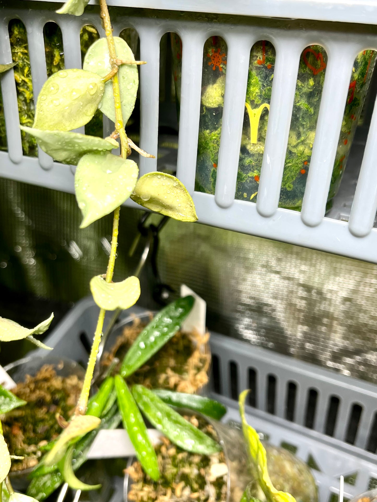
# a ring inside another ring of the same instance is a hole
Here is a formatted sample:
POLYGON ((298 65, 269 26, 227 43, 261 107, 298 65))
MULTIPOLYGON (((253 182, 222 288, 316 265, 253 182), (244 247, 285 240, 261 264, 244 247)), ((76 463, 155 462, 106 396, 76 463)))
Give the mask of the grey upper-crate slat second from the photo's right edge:
POLYGON ((301 209, 306 225, 319 225, 325 215, 331 176, 342 127, 353 62, 353 43, 329 43, 328 63, 313 144, 310 169, 301 209))

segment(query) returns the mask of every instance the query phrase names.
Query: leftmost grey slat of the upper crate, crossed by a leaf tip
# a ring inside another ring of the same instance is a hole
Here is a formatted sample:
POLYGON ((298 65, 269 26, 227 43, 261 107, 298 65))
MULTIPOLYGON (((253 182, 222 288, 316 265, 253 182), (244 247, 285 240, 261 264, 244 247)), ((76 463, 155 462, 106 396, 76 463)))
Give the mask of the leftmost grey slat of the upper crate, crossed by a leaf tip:
MULTIPOLYGON (((11 44, 9 42, 8 20, 7 23, 0 24, 0 47, 4 54, 4 61, 12 62, 11 44)), ((4 117, 7 131, 7 142, 9 158, 14 164, 22 161, 22 142, 20 121, 17 103, 17 90, 15 74, 13 69, 1 75, 4 117), (7 96, 6 99, 4 97, 7 96)))

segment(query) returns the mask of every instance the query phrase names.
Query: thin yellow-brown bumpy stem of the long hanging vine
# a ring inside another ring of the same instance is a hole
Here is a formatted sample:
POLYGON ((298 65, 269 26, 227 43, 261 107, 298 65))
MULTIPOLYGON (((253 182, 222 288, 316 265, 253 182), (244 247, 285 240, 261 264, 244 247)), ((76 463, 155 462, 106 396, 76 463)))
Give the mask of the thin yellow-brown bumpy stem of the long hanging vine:
MULTIPOLYGON (((121 104, 121 92, 119 87, 119 79, 118 79, 118 64, 116 63, 117 54, 115 52, 115 44, 113 38, 113 29, 111 26, 110 16, 108 6, 106 4, 106 0, 100 0, 101 6, 101 18, 103 20, 106 38, 108 41, 109 55, 110 55, 110 63, 112 67, 112 76, 113 79, 113 94, 114 94, 114 105, 115 105, 115 130, 119 135, 121 140, 121 157, 123 159, 127 159, 127 157, 131 154, 131 148, 129 146, 129 140, 126 135, 126 131, 124 129, 123 115, 122 115, 122 104, 121 104)), ((119 227, 119 212, 120 207, 118 207, 114 211, 114 220, 113 220, 113 235, 111 239, 111 251, 109 257, 109 264, 106 271, 106 282, 110 283, 113 280, 114 275, 114 265, 115 259, 117 256, 117 245, 118 245, 118 227, 119 227)), ((98 316, 97 327, 95 331, 95 335, 93 338, 93 343, 90 350, 89 360, 85 372, 84 382, 82 384, 82 390, 80 397, 78 399, 78 403, 76 406, 75 414, 76 415, 84 415, 87 408, 87 402, 89 399, 89 391, 91 386, 91 380, 93 378, 93 371, 96 365, 98 349, 101 343, 102 331, 104 327, 105 320, 105 309, 100 310, 100 314, 98 316)))

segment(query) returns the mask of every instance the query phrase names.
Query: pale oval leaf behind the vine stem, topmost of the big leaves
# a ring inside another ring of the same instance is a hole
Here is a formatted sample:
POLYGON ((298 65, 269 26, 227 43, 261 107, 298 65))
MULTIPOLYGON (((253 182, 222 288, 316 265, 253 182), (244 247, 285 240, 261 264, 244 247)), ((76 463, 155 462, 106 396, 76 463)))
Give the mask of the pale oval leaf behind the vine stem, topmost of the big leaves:
MULTIPOLYGON (((115 50, 121 60, 135 61, 135 57, 122 38, 114 37, 115 50)), ((82 68, 93 73, 98 73, 101 77, 111 70, 108 43, 106 38, 100 38, 92 44, 84 59, 82 68)), ((118 70, 119 86, 121 90, 122 115, 124 123, 130 118, 135 106, 137 88, 139 86, 139 73, 137 66, 132 64, 122 64, 118 70)), ((113 95, 113 84, 111 80, 106 82, 105 92, 99 104, 100 110, 115 122, 115 106, 113 95)))

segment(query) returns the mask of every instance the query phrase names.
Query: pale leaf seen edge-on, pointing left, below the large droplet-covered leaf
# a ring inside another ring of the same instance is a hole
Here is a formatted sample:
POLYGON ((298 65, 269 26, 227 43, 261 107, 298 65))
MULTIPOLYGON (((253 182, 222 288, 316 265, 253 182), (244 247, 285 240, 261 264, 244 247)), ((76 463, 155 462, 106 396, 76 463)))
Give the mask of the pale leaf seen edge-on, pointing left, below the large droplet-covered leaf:
POLYGON ((119 148, 118 142, 113 138, 103 140, 97 136, 85 136, 67 131, 42 131, 41 129, 20 127, 25 133, 34 136, 46 154, 63 164, 76 166, 81 157, 89 152, 106 152, 113 150, 113 148, 119 148))

